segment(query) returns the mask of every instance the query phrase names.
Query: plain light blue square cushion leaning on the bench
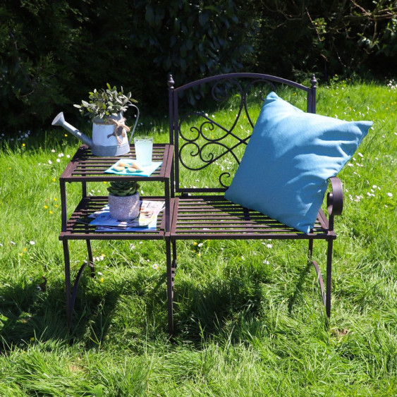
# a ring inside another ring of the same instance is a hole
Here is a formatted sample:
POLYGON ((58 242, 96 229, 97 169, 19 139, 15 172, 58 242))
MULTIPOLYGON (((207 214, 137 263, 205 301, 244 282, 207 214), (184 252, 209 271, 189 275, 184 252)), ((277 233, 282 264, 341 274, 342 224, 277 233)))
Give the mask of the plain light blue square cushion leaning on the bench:
POLYGON ((306 113, 270 92, 225 197, 310 233, 327 179, 341 171, 370 126, 306 113))

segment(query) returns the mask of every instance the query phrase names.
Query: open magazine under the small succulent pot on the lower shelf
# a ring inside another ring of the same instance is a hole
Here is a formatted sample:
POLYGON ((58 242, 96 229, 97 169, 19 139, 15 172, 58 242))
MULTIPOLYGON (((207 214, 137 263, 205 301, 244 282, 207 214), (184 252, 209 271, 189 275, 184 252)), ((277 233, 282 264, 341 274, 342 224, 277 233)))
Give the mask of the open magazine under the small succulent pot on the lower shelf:
POLYGON ((164 201, 140 201, 140 215, 130 221, 119 221, 109 214, 109 205, 87 216, 90 225, 97 226, 97 231, 153 231, 157 226, 157 215, 164 209, 164 201))

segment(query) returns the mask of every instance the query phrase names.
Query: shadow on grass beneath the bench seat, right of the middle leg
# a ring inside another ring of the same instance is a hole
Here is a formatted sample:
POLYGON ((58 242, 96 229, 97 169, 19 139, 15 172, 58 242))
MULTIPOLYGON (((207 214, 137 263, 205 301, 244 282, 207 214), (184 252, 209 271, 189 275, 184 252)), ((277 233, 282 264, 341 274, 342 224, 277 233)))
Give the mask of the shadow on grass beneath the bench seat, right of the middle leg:
MULTIPOLYGON (((202 338, 223 338, 240 343, 242 335, 254 336, 261 329, 274 329, 269 317, 274 314, 269 310, 277 310, 274 305, 285 306, 283 316, 292 319, 295 307, 299 305, 299 312, 305 310, 307 296, 325 312, 319 286, 315 283, 312 288, 309 281, 313 275, 314 267, 307 264, 283 286, 265 274, 262 278, 260 274, 253 277, 234 274, 227 280, 204 286, 195 286, 195 281, 176 280, 176 338, 199 344, 202 338)), ((317 313, 321 319, 324 312, 317 313)))

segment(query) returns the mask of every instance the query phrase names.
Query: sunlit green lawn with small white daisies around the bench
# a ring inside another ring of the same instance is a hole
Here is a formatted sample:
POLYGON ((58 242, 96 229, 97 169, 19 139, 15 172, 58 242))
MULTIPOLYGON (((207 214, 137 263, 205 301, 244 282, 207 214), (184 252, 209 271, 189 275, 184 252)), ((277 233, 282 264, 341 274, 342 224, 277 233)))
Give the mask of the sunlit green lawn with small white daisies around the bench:
MULTIPOLYGON (((69 335, 59 176, 79 142, 61 128, 0 140, 0 396, 396 396, 396 100, 386 85, 318 89, 317 113, 374 120, 339 175, 329 328, 300 242, 178 244, 171 342, 164 243, 98 241, 69 335)), ((167 123, 140 132, 166 142, 167 123)), ((80 190, 67 189, 72 209, 80 190)), ((77 271, 85 244, 71 248, 77 271)))

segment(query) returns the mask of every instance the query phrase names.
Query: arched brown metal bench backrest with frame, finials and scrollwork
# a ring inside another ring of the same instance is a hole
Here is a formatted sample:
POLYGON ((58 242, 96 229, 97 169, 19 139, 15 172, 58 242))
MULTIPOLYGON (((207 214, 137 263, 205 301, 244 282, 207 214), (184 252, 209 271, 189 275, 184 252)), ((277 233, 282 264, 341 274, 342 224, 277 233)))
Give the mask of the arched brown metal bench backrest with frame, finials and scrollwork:
POLYGON ((229 73, 175 88, 170 75, 170 142, 175 145, 173 193, 224 193, 267 94, 277 92, 300 109, 315 113, 316 83, 314 75, 311 87, 306 87, 272 75, 229 73))

